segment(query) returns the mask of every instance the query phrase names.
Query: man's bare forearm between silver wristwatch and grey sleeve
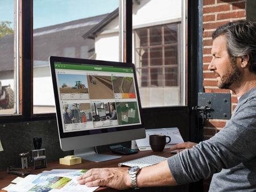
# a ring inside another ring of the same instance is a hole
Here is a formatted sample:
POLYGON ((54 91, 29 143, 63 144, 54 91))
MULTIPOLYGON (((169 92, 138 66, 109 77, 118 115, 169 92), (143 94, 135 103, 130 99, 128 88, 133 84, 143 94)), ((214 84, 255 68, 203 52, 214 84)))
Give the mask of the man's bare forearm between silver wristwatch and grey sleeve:
POLYGON ((170 172, 167 160, 160 164, 142 168, 137 175, 138 187, 153 186, 176 186, 172 174, 170 172))

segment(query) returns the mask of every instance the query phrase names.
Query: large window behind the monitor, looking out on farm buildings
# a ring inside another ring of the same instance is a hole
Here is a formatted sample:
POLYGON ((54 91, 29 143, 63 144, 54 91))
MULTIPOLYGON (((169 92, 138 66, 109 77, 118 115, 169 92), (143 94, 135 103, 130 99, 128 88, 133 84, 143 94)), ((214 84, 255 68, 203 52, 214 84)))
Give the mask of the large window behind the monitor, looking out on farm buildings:
MULTIPOLYGON (((0 18, 3 22, 10 20, 7 27, 18 36, 0 37, 0 81, 3 86, 10 84, 13 99, 9 101, 14 103, 9 109, 0 108, 0 115, 20 114, 17 121, 19 118, 36 120, 41 116, 55 118, 49 56, 118 61, 118 2, 13 0, 3 3, 0 18), (15 12, 19 14, 13 14, 15 12), (90 15, 80 15, 87 13, 90 15), (8 15, 10 19, 5 19, 8 15), (65 15, 69 15, 68 19, 65 15)), ((131 62, 138 67, 142 106, 183 105, 182 0, 132 2, 133 41, 129 41, 127 47, 132 47, 131 62)), ((130 28, 127 34, 130 34, 130 28)))

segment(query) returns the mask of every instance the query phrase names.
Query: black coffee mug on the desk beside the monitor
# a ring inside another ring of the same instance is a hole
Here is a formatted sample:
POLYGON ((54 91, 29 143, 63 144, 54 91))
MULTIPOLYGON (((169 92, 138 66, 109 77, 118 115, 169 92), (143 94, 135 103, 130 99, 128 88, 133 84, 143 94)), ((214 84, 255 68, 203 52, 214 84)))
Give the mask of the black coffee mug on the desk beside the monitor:
POLYGON ((171 137, 166 135, 150 135, 150 147, 152 151, 160 152, 163 151, 166 144, 171 142, 171 137), (169 138, 169 141, 166 142, 166 137, 169 138))

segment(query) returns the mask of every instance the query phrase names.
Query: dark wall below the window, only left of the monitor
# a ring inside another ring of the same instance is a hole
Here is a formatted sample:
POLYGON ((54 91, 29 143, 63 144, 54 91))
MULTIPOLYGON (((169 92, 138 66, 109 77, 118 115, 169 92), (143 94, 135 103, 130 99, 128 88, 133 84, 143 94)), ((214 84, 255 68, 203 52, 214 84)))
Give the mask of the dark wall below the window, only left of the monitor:
POLYGON ((3 147, 0 152, 0 171, 14 165, 20 159, 20 153, 33 150, 34 137, 42 137, 41 149, 46 149, 47 162, 59 161, 59 158, 73 155, 73 151, 61 151, 58 134, 56 120, 0 124, 3 147))

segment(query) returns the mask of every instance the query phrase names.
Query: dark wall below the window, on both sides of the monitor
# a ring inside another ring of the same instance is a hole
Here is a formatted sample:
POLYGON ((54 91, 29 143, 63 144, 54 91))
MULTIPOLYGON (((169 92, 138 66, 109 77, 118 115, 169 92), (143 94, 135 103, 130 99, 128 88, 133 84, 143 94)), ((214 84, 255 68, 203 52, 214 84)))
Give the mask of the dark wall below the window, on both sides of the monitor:
MULTIPOLYGON (((184 141, 189 140, 188 107, 143 108, 143 119, 146 129, 177 127, 184 141)), ((20 153, 34 149, 33 138, 42 137, 42 149, 46 149, 47 162, 59 161, 73 151, 63 152, 60 149, 59 133, 56 120, 0 124, 0 140, 4 151, 0 152, 0 171, 14 165, 20 159, 20 153)), ((122 143, 126 147, 131 142, 122 143)), ((109 151, 106 145, 97 147, 98 152, 109 151)))

